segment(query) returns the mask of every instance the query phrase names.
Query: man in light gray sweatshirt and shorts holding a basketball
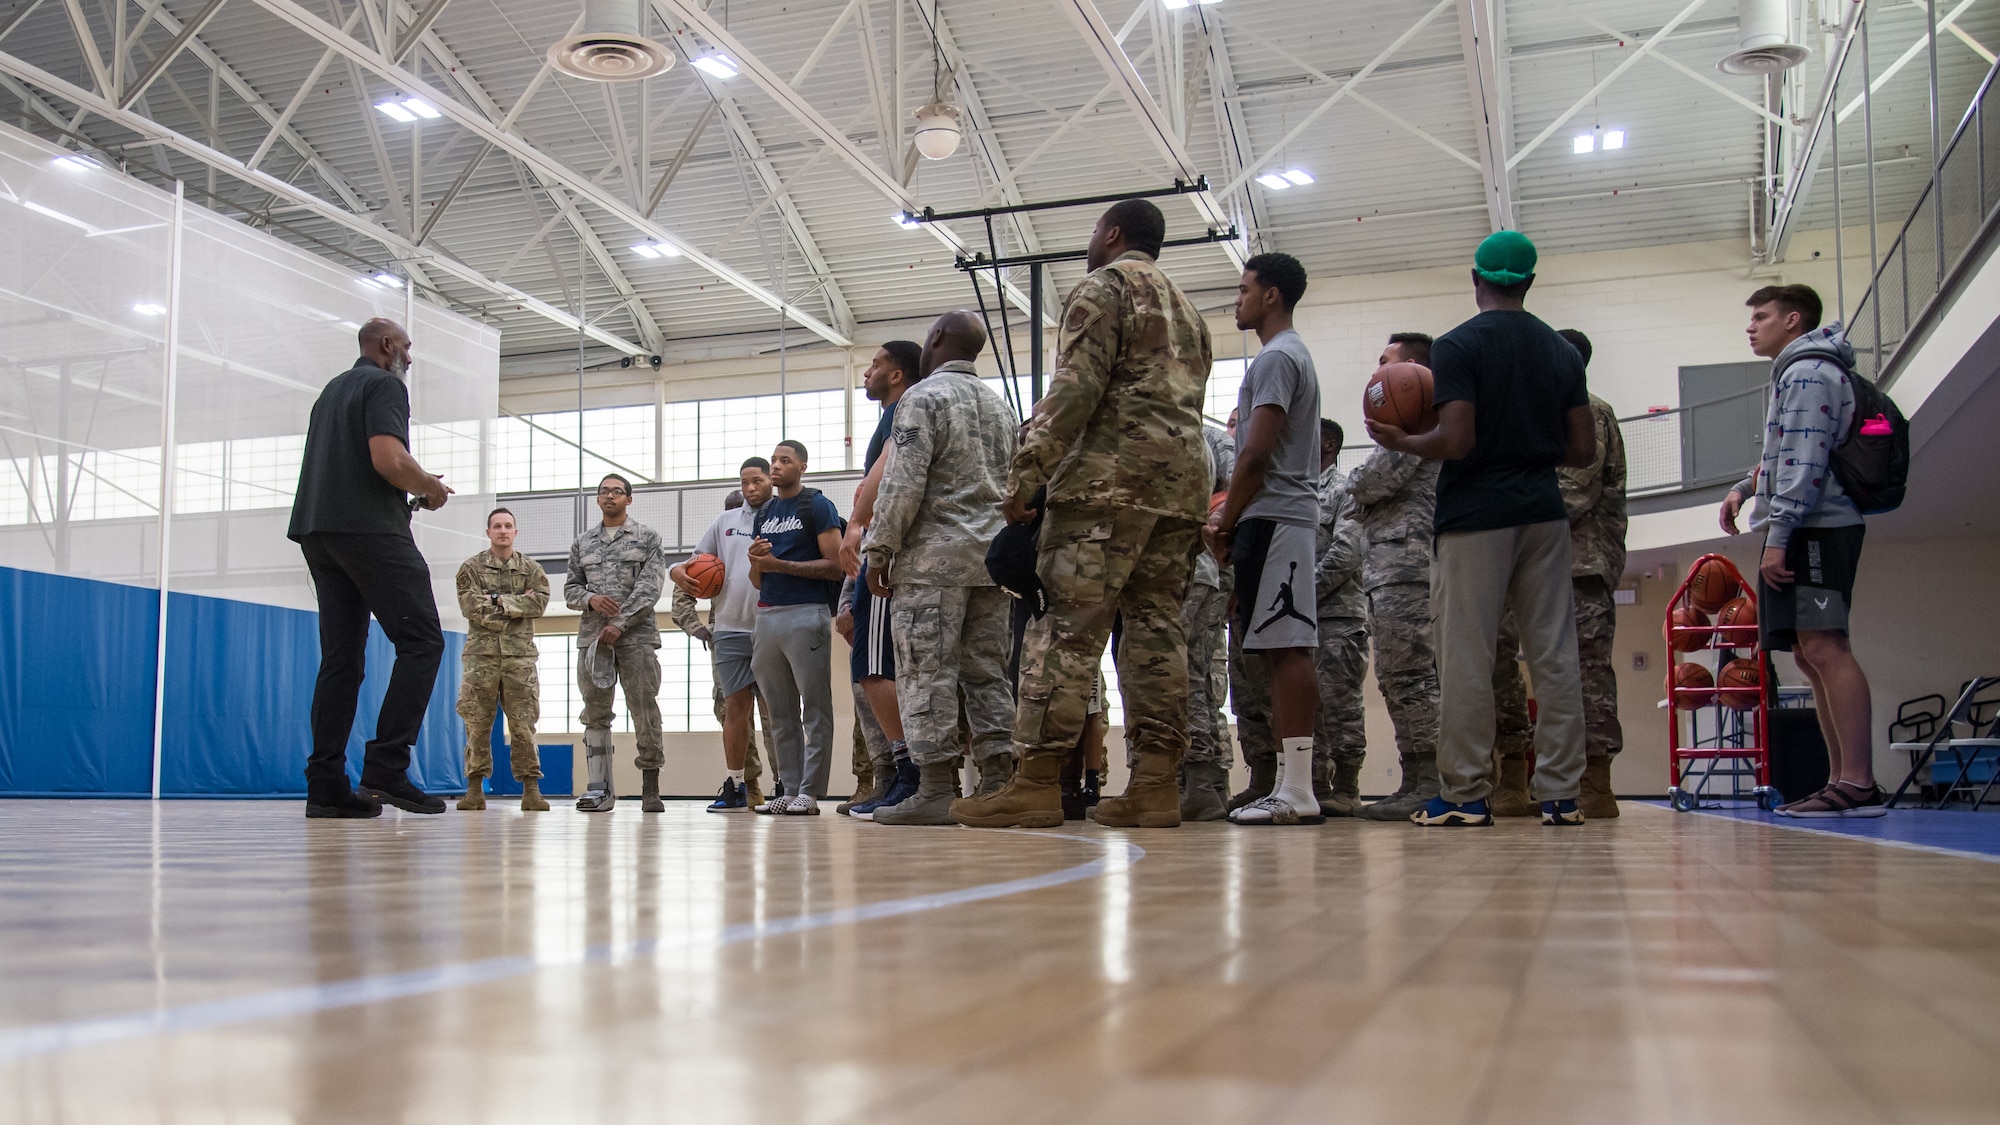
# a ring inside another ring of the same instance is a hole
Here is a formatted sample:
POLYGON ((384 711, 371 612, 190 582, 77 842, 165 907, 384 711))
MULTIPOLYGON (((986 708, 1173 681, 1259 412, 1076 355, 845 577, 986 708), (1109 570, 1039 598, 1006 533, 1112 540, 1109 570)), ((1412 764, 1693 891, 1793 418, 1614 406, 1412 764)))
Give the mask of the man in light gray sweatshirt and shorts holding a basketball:
MULTIPOLYGON (((758 508, 770 498, 770 462, 752 456, 738 472, 742 506, 722 508, 708 524, 696 554, 722 560, 722 593, 708 603, 708 639, 714 655, 716 691, 722 693, 722 791, 710 813, 734 813, 750 807, 744 767, 750 759, 750 721, 756 713, 756 675, 750 671, 750 635, 756 631, 756 587, 750 583, 750 538, 758 508)), ((688 565, 676 562, 668 579, 682 593, 694 595, 688 565)), ((770 719, 764 721, 770 727, 770 719)))

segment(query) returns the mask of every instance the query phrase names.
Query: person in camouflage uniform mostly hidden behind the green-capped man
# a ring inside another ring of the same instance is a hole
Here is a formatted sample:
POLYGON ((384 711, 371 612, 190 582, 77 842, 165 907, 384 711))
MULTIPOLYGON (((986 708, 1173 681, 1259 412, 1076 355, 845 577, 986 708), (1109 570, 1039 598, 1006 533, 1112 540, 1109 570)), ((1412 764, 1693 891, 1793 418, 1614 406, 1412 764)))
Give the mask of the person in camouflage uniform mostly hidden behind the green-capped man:
MULTIPOLYGON (((1612 793, 1612 755, 1624 749, 1618 723, 1618 673, 1612 669, 1612 639, 1618 607, 1612 591, 1624 577, 1626 534, 1626 452, 1618 414, 1610 402, 1590 396, 1590 424, 1596 428, 1596 456, 1584 468, 1556 468, 1562 506, 1570 516, 1570 601, 1576 607, 1576 659, 1584 677, 1584 783, 1578 807, 1586 819, 1618 815, 1612 793)), ((1494 665, 1494 711, 1500 737, 1500 783, 1488 807, 1494 817, 1530 817, 1540 807, 1528 797, 1528 687, 1520 675, 1520 641, 1514 615, 1500 627, 1494 665)))

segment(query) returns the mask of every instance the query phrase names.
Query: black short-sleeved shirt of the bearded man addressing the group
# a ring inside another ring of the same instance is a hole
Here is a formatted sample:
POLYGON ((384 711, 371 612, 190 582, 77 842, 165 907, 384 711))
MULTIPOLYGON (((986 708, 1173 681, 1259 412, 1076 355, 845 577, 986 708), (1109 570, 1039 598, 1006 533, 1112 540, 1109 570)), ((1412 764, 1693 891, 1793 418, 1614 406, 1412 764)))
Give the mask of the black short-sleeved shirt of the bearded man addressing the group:
POLYGON ((408 534, 410 500, 374 470, 368 438, 388 434, 410 448, 410 388, 374 360, 354 360, 312 404, 306 456, 298 466, 290 538, 316 530, 408 534))

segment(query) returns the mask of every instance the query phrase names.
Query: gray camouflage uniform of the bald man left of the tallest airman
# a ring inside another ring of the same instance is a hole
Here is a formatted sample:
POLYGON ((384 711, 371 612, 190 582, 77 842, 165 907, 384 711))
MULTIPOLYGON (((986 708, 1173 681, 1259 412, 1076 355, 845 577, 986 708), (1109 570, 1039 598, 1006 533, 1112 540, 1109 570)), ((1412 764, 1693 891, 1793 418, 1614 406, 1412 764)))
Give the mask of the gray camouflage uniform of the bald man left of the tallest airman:
POLYGON ((958 759, 960 697, 974 761, 1012 753, 1006 659, 1012 607, 986 573, 1020 420, 970 362, 940 364, 896 402, 870 575, 888 575, 896 703, 910 761, 958 759))

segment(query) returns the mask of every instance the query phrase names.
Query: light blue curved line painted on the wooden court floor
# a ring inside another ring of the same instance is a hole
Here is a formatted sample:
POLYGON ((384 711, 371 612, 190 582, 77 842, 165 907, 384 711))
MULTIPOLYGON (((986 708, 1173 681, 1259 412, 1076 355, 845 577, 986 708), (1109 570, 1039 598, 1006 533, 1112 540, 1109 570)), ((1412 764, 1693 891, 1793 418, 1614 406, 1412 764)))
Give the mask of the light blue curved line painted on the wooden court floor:
POLYGON ((786 937, 794 933, 808 933, 814 929, 830 929, 840 925, 894 919, 902 915, 918 915, 926 911, 942 911, 950 907, 964 907, 968 903, 984 903, 988 899, 1006 899, 1010 895, 1046 891, 1050 887, 1062 887, 1064 883, 1080 883, 1084 879, 1096 879, 1110 869, 1110 861, 1114 855, 1122 855, 1126 865, 1138 863, 1140 859, 1146 857, 1146 849, 1118 839, 1072 837, 1062 833, 1020 833, 1020 835, 1032 835, 1034 839, 1044 839, 1044 841, 1050 839, 1082 841, 1102 847, 1104 855, 1092 859, 1090 863, 1064 867, 1062 871, 1050 871, 1046 875, 1030 875, 1026 879, 1008 879, 1006 883, 982 883, 978 887, 966 887, 962 891, 938 891, 934 895, 916 895, 910 899, 888 899, 884 903, 868 903, 860 907, 844 907, 838 911, 796 915, 776 921, 736 923, 722 927, 720 931, 708 937, 648 937, 620 945, 594 945, 572 959, 560 959, 560 961, 550 961, 530 955, 488 957, 482 961, 458 961, 450 965, 436 965, 430 969, 410 969, 408 973, 386 973, 378 977, 354 977, 350 981, 332 981, 324 985, 272 989, 264 993, 250 993, 218 1001, 198 1001, 198 1003, 162 1007, 152 1011, 134 1011, 134 1013, 104 1015, 94 1019, 72 1019, 62 1023, 8 1027, 0 1029, 0 1061, 30 1059, 36 1055, 56 1055, 62 1051, 74 1051, 78 1047, 96 1047, 100 1043, 118 1043, 124 1039, 142 1039, 148 1035, 178 1035, 182 1031, 208 1031, 214 1027, 228 1027, 258 1019, 310 1015, 316 1011, 384 1003, 404 997, 424 997, 448 989, 464 989, 472 985, 486 985, 492 981, 506 981, 510 977, 526 977, 542 969, 570 967, 570 965, 604 965, 610 961, 638 959, 662 949, 702 949, 702 947, 722 949, 728 945, 740 945, 744 941, 758 941, 766 937, 786 937))

